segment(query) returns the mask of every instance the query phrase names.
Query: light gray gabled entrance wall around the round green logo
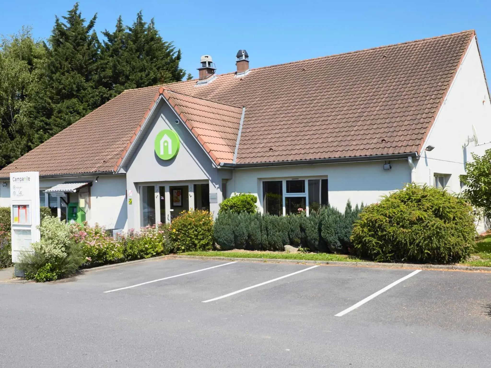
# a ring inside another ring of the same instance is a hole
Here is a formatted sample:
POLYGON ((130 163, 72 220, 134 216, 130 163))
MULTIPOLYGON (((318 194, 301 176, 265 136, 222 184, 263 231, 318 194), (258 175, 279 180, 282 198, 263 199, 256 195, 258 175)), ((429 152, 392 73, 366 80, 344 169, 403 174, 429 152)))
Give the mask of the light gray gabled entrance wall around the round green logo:
MULTIPOLYGON (((140 227, 141 203, 138 193, 140 185, 187 183, 190 189, 189 203, 192 206, 194 203, 192 184, 208 183, 210 193, 217 193, 219 203, 222 199, 222 180, 232 177, 230 169, 217 168, 182 121, 179 121, 179 124, 175 123, 179 118, 166 101, 161 99, 158 104, 135 141, 134 148, 130 149, 130 159, 123 167, 126 171, 127 190, 133 193, 132 204, 128 204, 127 201, 128 229, 140 227), (155 137, 164 129, 175 131, 181 141, 178 154, 166 161, 159 158, 154 150, 155 137)), ((170 210, 167 198, 165 202, 168 207, 166 210, 170 210)), ((218 203, 210 204, 210 210, 215 216, 218 214, 218 203)))

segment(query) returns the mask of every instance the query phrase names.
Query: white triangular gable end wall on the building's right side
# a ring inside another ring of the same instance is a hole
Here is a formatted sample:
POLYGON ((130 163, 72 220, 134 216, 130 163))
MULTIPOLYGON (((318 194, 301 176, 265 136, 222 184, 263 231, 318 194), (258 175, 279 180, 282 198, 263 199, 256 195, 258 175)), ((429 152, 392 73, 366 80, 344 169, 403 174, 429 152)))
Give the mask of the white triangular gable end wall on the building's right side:
POLYGON ((472 137, 472 125, 476 127, 479 143, 491 141, 490 96, 475 39, 423 145, 421 158, 415 162, 414 181, 433 185, 435 173, 449 174, 448 190, 459 193, 459 175, 465 174, 465 162, 472 159, 470 153, 482 155, 491 148, 491 144, 475 147, 472 142, 462 147, 467 136, 472 137), (428 145, 435 149, 424 151, 428 145))

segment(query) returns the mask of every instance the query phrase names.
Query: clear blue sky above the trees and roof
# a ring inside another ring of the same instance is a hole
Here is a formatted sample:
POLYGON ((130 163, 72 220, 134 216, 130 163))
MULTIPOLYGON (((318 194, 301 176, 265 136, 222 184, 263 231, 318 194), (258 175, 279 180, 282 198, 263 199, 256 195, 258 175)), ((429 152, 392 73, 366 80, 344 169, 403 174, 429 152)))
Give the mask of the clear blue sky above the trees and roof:
MULTIPOLYGON (((0 34, 32 26, 36 38, 47 38, 55 15, 74 3, 0 0, 0 34)), ((226 73, 235 70, 239 49, 258 67, 475 29, 491 78, 490 0, 80 1, 86 19, 97 13, 98 32, 112 31, 119 15, 131 24, 140 9, 181 49, 181 65, 194 76, 202 54, 212 55, 217 72, 226 73)))

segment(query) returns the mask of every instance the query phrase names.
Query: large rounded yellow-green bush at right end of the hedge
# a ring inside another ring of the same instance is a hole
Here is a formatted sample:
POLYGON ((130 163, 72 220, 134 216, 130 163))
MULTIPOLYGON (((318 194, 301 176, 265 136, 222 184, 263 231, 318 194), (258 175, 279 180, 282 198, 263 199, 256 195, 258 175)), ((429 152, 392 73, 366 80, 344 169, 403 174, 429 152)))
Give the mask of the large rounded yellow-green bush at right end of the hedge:
POLYGON ((408 184, 364 208, 352 241, 358 255, 376 262, 457 263, 473 249, 472 208, 457 196, 408 184))

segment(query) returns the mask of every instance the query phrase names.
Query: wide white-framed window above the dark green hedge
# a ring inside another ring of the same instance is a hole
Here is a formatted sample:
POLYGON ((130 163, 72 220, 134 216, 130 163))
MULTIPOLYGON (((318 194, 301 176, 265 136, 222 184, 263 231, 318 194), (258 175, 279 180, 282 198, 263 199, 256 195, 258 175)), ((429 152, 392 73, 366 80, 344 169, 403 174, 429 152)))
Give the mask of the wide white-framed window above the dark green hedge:
POLYGON ((264 212, 281 216, 327 206, 327 179, 285 179, 263 182, 264 212), (283 196, 283 191, 285 195, 283 196))

